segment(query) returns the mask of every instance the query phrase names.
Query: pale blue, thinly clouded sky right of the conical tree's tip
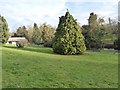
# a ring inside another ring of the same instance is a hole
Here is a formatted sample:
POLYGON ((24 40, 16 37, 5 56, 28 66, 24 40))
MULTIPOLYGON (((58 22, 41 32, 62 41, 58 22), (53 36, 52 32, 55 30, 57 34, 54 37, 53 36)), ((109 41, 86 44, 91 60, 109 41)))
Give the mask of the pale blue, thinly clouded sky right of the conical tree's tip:
POLYGON ((91 12, 97 14, 98 17, 104 17, 107 21, 109 17, 115 18, 118 16, 117 2, 72 2, 71 4, 68 4, 68 7, 71 8, 71 14, 77 18, 81 25, 88 24, 87 19, 91 12))

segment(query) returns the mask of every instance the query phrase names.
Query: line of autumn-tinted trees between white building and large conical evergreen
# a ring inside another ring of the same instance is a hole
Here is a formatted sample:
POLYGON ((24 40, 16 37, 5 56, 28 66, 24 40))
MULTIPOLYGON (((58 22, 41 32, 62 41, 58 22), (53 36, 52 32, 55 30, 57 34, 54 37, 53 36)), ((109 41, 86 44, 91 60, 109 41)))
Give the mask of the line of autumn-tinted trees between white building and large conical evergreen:
POLYGON ((28 29, 25 26, 19 27, 12 37, 25 37, 29 43, 37 45, 51 42, 56 28, 50 24, 43 23, 38 26, 34 23, 33 27, 30 26, 28 29))

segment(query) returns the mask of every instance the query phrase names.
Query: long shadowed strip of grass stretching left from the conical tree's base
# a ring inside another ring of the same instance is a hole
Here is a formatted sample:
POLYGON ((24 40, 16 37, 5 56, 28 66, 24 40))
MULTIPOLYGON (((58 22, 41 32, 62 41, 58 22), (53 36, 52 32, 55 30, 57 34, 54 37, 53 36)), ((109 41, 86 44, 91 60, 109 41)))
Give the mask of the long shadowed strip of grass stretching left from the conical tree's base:
POLYGON ((3 46, 3 47, 17 49, 17 50, 25 50, 25 51, 32 51, 32 52, 54 54, 52 48, 46 48, 43 46, 27 46, 25 48, 17 48, 16 46, 3 46))

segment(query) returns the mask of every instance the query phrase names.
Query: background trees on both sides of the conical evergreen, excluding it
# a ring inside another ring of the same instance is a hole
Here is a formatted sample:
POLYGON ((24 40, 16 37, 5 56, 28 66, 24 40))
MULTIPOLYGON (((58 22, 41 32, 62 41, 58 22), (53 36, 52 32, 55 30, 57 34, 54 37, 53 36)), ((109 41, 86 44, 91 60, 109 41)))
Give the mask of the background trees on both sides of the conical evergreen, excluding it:
MULTIPOLYGON (((108 18, 106 23, 104 18, 98 17, 94 12, 90 13, 88 18, 88 25, 82 25, 81 32, 84 36, 84 41, 87 49, 102 49, 104 47, 110 47, 110 44, 114 45, 114 41, 118 36, 118 24, 117 20, 108 18)), ((58 27, 57 27, 58 28, 58 27)), ((43 23, 27 27, 20 26, 16 32, 9 33, 8 24, 4 17, 0 16, 0 38, 2 43, 6 43, 8 37, 26 37, 29 43, 45 44, 48 43, 52 46, 52 40, 54 38, 57 28, 50 24, 43 23)), ((114 46, 112 47, 114 48, 114 46)))

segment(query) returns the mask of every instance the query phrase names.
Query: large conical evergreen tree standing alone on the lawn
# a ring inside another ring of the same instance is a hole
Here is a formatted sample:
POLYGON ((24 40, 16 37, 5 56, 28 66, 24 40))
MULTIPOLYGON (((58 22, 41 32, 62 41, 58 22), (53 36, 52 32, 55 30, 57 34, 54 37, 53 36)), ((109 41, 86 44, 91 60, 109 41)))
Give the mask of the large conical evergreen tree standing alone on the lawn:
POLYGON ((73 16, 67 11, 65 16, 59 18, 58 28, 53 39, 53 51, 59 54, 75 55, 83 54, 85 50, 81 29, 73 16))

